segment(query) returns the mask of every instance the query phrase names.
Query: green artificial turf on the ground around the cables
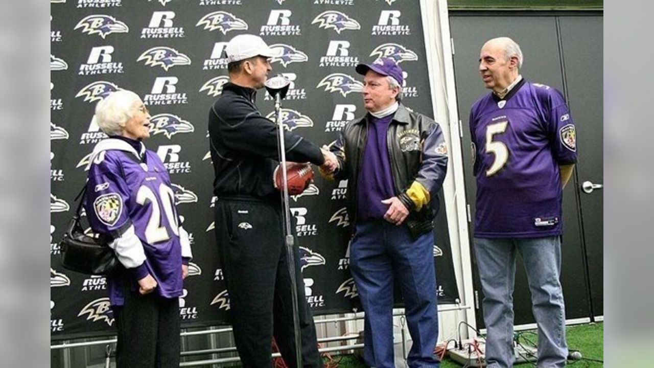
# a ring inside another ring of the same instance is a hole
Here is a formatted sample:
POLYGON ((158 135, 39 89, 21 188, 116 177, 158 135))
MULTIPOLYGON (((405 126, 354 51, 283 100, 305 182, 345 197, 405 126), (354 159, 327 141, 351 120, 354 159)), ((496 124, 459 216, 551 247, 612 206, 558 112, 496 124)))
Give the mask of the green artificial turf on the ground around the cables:
MULTIPOLYGON (((536 336, 525 333, 523 334, 527 339, 536 342, 536 336)), ((568 339, 568 347, 570 349, 579 350, 584 358, 593 358, 602 360, 604 358, 604 324, 602 323, 591 323, 586 325, 576 325, 568 327, 566 336, 568 339)), ((341 359, 339 362, 339 367, 343 368, 363 368, 366 365, 354 356, 339 356, 334 357, 336 361, 341 359)), ((441 368, 460 368, 461 365, 452 361, 448 358, 445 358, 441 362, 441 368)), ((529 363, 523 363, 519 365, 514 365, 515 368, 526 368, 534 367, 534 365, 529 363)), ((594 363, 590 361, 576 361, 568 363, 568 367, 576 368, 596 368, 603 367, 602 363, 594 363)))

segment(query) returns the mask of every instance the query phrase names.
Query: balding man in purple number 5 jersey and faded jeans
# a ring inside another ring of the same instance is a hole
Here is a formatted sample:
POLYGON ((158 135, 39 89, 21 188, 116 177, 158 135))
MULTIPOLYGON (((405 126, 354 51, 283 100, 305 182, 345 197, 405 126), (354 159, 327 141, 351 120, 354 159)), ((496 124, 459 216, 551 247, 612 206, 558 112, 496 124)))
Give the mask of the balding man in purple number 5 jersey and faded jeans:
POLYGON ((485 43, 479 72, 491 92, 470 111, 474 244, 490 368, 513 366, 516 251, 525 260, 538 323, 538 367, 562 367, 568 356, 560 236, 562 189, 577 160, 575 126, 562 94, 523 79, 522 63, 512 39, 485 43))

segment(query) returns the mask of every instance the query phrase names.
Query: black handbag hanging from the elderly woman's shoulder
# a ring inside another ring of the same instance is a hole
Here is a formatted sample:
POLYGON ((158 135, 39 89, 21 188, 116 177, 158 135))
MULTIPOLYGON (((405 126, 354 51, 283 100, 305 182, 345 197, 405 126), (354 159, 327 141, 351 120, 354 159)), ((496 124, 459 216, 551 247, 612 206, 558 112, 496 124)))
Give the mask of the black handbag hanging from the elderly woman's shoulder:
POLYGON ((88 275, 107 275, 114 272, 120 263, 113 249, 109 247, 111 236, 97 234, 88 236, 80 224, 80 212, 84 203, 86 185, 77 194, 77 210, 71 219, 68 229, 59 243, 61 247, 61 265, 67 270, 88 275), (81 198, 80 198, 81 197, 81 198))

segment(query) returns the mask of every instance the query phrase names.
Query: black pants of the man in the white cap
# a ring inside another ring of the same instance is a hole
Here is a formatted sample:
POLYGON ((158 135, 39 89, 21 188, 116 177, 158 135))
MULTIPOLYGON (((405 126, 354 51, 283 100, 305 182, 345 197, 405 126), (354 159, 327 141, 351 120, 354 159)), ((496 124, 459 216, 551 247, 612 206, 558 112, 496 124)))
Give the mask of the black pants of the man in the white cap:
MULTIPOLYGON (((272 367, 271 338, 297 367, 282 213, 256 200, 220 198, 215 207, 218 256, 230 294, 230 316, 243 367, 272 367)), ((296 283, 303 367, 322 367, 296 248, 296 283)))

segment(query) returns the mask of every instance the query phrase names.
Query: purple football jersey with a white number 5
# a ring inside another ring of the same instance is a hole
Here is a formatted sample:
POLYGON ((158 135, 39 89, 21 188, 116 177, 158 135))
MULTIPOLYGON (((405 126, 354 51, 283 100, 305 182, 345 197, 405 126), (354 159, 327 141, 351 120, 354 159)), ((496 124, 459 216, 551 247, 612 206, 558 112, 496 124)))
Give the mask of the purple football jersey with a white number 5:
POLYGON ((575 126, 562 94, 524 80, 504 100, 488 94, 472 106, 470 134, 475 237, 562 234, 559 165, 577 160, 575 126))

